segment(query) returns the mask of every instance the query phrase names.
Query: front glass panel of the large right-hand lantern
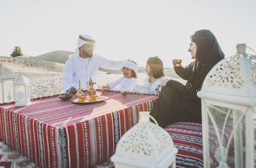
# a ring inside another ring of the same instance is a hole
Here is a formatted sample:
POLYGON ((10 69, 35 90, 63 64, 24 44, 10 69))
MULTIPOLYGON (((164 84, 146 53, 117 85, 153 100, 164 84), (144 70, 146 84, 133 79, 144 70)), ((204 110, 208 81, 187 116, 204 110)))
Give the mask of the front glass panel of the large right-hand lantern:
POLYGON ((210 167, 245 165, 245 113, 240 109, 205 104, 210 167))

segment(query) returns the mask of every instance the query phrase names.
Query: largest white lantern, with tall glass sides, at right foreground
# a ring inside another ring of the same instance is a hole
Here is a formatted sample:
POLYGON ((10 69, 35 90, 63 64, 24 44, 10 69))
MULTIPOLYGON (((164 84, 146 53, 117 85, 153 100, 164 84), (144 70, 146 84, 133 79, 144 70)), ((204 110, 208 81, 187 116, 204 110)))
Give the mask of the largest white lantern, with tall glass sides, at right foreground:
POLYGON ((223 59, 205 77, 202 99, 204 167, 256 166, 256 55, 223 59))

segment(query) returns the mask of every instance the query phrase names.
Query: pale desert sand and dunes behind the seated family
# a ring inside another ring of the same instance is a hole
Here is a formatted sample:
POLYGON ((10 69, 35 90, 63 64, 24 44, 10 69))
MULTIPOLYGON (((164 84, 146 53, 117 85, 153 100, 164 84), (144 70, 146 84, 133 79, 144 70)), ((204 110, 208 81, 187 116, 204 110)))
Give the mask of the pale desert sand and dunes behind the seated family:
MULTIPOLYGON (((45 53, 37 57, 22 55, 19 57, 0 57, 0 63, 11 69, 15 76, 19 73, 29 80, 31 90, 31 98, 42 97, 45 95, 55 95, 61 93, 61 76, 63 66, 68 59, 68 55, 72 52, 55 51, 45 53)), ((173 69, 165 69, 166 78, 180 81, 186 81, 177 78, 177 74, 173 69)), ((122 76, 121 71, 110 71, 108 69, 100 69, 97 76, 97 87, 109 81, 115 81, 122 76)), ((138 84, 141 84, 147 76, 143 67, 139 68, 138 84)))

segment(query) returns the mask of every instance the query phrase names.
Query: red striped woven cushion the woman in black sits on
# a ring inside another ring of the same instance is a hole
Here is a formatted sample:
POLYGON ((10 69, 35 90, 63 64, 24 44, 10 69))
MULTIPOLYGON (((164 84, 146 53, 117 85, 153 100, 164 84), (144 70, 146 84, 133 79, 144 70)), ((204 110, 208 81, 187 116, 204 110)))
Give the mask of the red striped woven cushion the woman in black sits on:
POLYGON ((172 137, 176 167, 204 167, 202 124, 177 122, 164 128, 172 137))

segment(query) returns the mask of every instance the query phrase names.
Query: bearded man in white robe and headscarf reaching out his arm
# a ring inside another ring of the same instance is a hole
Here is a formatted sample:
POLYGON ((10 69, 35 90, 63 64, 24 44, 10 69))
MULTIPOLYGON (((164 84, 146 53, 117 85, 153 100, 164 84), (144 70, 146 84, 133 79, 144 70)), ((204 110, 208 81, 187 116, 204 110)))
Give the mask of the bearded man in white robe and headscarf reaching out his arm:
POLYGON ((95 40, 88 35, 79 35, 76 53, 69 56, 65 66, 61 84, 62 93, 76 94, 81 81, 81 88, 87 89, 86 82, 92 78, 97 81, 99 67, 105 69, 121 69, 124 61, 104 59, 93 53, 95 40))

